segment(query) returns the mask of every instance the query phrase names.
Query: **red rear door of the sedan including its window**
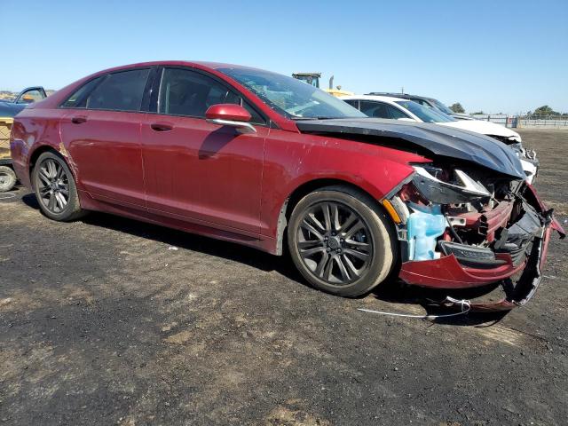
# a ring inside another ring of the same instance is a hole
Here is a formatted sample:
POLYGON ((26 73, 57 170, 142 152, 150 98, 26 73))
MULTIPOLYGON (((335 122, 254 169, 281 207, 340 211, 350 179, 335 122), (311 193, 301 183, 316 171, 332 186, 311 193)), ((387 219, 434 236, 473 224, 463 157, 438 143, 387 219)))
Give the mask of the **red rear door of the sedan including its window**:
POLYGON ((95 199, 146 207, 140 109, 150 71, 136 68, 99 77, 63 104, 69 111, 61 120, 61 138, 80 187, 95 199))

